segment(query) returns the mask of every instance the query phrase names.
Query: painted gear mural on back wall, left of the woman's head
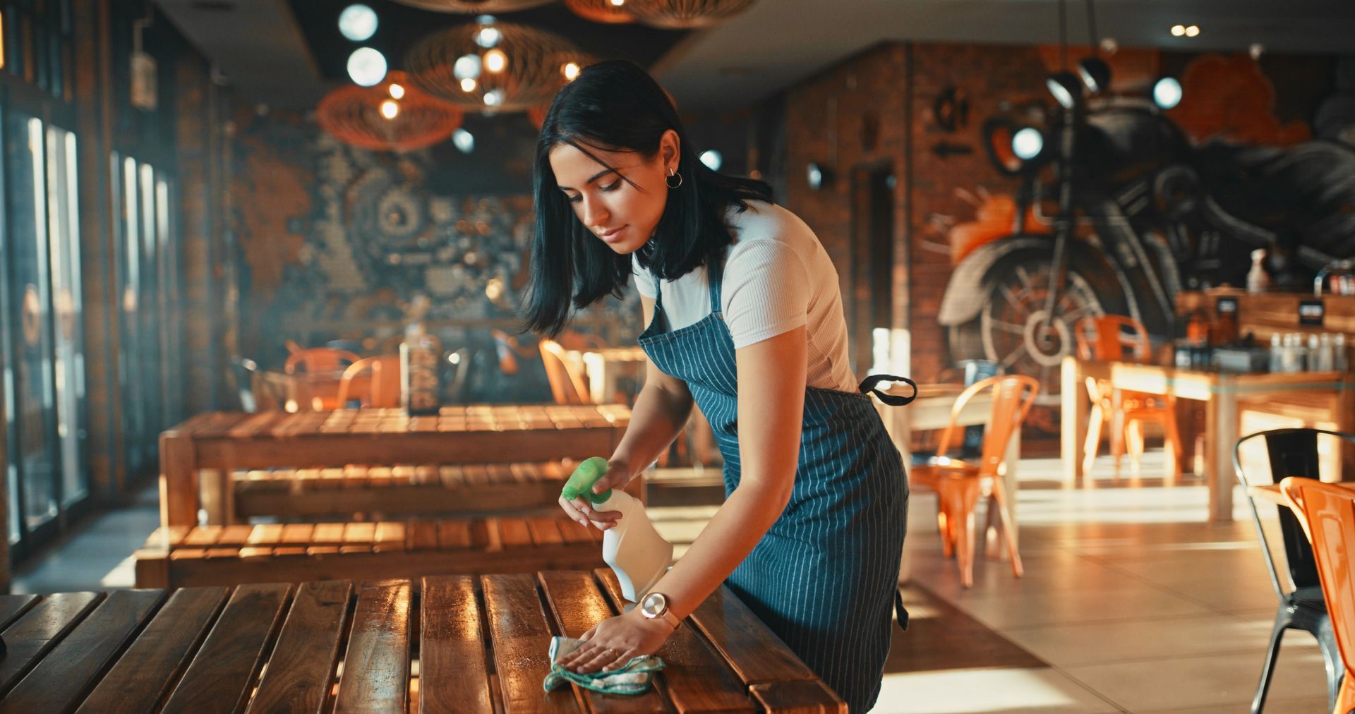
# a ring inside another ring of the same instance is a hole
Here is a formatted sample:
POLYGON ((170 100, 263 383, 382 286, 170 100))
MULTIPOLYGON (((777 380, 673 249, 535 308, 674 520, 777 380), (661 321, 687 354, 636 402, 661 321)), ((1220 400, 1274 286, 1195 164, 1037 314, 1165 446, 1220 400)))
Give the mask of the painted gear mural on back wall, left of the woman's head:
MULTIPOLYGON (((408 316, 428 303, 430 332, 447 351, 473 355, 463 398, 550 400, 535 340, 516 335, 533 211, 526 172, 512 168, 527 163, 504 154, 530 142, 481 142, 478 156, 393 154, 350 148, 301 117, 245 117, 237 126, 244 356, 276 363, 287 339, 390 352, 408 316), (509 175, 467 182, 467 163, 509 175), (485 184, 518 190, 476 191, 485 184), (519 343, 520 374, 500 371, 505 337, 519 343)), ((638 322, 631 293, 581 314, 577 327, 618 341, 637 335, 638 322)))

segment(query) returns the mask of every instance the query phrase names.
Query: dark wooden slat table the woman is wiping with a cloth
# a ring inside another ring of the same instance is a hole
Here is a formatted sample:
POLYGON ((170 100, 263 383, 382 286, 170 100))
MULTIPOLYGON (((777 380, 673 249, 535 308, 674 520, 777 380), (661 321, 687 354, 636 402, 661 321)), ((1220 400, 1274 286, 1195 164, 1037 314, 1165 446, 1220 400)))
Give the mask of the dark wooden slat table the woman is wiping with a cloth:
POLYGON ((847 711, 724 588, 649 692, 543 691, 619 602, 611 570, 7 595, 0 713, 847 711))

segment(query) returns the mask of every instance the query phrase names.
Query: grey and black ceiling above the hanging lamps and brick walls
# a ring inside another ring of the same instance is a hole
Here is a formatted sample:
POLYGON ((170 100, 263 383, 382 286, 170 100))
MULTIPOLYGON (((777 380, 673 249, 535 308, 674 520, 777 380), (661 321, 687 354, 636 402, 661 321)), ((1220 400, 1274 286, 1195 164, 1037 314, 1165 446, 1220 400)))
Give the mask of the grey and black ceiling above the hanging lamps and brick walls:
MULTIPOLYGON (((253 100, 309 107, 346 81, 355 45, 336 28, 341 0, 156 1, 253 100)), ((394 68, 401 47, 473 20, 390 0, 369 4, 382 19, 370 45, 394 68)), ((1068 3, 1070 42, 1087 42, 1085 7, 1068 3)), ((1274 53, 1355 54, 1352 0, 1099 0, 1095 8, 1099 34, 1121 46, 1240 51, 1260 42, 1274 53), (1172 37, 1176 23, 1201 33, 1172 37)), ((558 3, 500 19, 649 66, 687 111, 740 108, 883 41, 1058 42, 1056 0, 759 0, 718 27, 691 33, 592 23, 558 3)))

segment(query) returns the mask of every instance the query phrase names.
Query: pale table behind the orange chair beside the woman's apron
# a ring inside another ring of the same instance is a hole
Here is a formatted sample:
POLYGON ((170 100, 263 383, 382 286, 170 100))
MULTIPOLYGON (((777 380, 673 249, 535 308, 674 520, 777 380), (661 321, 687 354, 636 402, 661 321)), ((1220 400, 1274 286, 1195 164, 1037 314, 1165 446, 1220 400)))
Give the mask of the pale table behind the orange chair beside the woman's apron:
MULTIPOLYGON (((889 438, 893 439, 894 447, 898 448, 898 453, 904 457, 904 469, 909 469, 912 465, 913 431, 946 428, 946 425, 950 424, 950 412, 955 406, 955 398, 959 397, 959 393, 965 389, 965 385, 959 383, 917 385, 917 398, 906 406, 889 406, 878 398, 873 398, 881 420, 885 421, 885 431, 889 432, 889 438)), ((908 385, 896 385, 886 390, 886 393, 906 397, 912 394, 912 387, 908 385)), ((984 390, 984 393, 969 400, 965 409, 957 415, 955 424, 962 427, 988 424, 988 419, 992 416, 992 412, 993 393, 992 390, 984 390)), ((961 432, 959 439, 963 439, 963 432, 961 432)), ((954 446, 958 448, 959 443, 955 443, 954 446)), ((1020 429, 1016 429, 1012 434, 1011 442, 1007 443, 1005 463, 1007 471, 1003 474, 1003 485, 1007 488, 1007 493, 1011 495, 1007 507, 1012 513, 1012 532, 1009 537, 1019 543, 1020 527, 1016 520, 1016 466, 1020 463, 1020 429)), ((909 579, 908 541, 905 539, 904 543, 904 561, 900 565, 898 572, 900 583, 906 583, 909 579)), ((995 558, 1005 558, 1007 549, 1000 547, 1000 542, 988 543, 984 547, 984 553, 995 558)))

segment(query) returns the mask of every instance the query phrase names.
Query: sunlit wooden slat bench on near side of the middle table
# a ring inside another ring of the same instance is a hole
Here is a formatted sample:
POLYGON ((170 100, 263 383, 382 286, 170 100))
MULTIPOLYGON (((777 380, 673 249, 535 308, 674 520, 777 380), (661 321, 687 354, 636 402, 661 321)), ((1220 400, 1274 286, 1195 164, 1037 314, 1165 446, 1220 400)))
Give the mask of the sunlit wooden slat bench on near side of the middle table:
POLYGON ((561 516, 169 527, 134 557, 138 588, 603 565, 602 531, 561 516))

